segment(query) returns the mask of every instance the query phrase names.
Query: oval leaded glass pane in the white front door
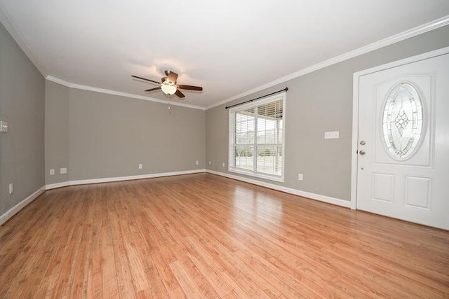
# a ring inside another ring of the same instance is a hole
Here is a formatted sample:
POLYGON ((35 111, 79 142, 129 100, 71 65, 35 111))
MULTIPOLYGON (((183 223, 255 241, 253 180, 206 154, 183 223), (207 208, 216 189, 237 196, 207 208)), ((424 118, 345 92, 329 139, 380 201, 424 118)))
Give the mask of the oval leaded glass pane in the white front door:
POLYGON ((384 145, 391 158, 407 160, 423 135, 423 106, 410 83, 396 85, 387 97, 382 115, 384 145))

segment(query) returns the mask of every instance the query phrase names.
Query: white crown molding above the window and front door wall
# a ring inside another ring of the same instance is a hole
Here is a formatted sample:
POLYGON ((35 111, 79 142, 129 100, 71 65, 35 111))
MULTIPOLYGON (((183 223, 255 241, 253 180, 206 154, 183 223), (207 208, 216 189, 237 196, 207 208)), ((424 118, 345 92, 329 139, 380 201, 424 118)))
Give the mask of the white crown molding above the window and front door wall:
POLYGON ((242 97, 246 97, 247 95, 252 95, 255 92, 258 92, 258 91, 261 91, 261 90, 264 90, 264 89, 267 89, 267 88, 271 88, 274 85, 285 83, 286 81, 290 81, 290 80, 292 80, 294 78, 297 78, 297 77, 300 77, 300 76, 304 76, 304 75, 309 74, 309 73, 311 73, 313 71, 318 71, 319 69, 323 69, 325 67, 329 67, 329 66, 331 66, 333 64, 337 64, 339 62, 343 62, 344 60, 349 60, 351 58, 354 58, 354 57, 366 54, 366 53, 371 52, 373 50, 377 50, 377 49, 383 48, 385 46, 389 46, 389 45, 391 45, 393 43, 397 43, 397 42, 403 41, 405 39, 410 39, 410 37, 417 36, 417 35, 423 34, 425 32, 429 32, 429 31, 434 30, 434 29, 438 29, 438 28, 443 27, 443 26, 448 25, 448 24, 449 24, 449 15, 446 15, 443 18, 436 19, 436 20, 428 22, 428 23, 426 23, 424 25, 420 25, 418 27, 406 30, 405 32, 401 32, 399 34, 395 34, 394 36, 389 36, 389 37, 387 37, 387 39, 382 39, 380 41, 376 41, 375 43, 370 43, 367 46, 363 46, 363 47, 358 48, 356 50, 352 50, 352 51, 344 53, 342 55, 335 56, 333 58, 330 58, 329 60, 325 60, 325 61, 320 62, 318 64, 314 64, 311 67, 307 67, 305 69, 301 69, 300 71, 296 71, 293 74, 289 74, 287 76, 283 76, 282 78, 276 79, 276 80, 271 81, 269 83, 266 83, 264 85, 260 85, 257 88, 253 88, 253 89, 248 90, 246 92, 242 92, 239 95, 234 95, 233 97, 229 97, 229 98, 224 99, 224 100, 222 100, 220 102, 217 102, 215 104, 207 106, 206 110, 212 109, 212 108, 214 108, 216 106, 220 106, 222 104, 227 104, 228 102, 232 102, 235 99, 241 99, 242 97))

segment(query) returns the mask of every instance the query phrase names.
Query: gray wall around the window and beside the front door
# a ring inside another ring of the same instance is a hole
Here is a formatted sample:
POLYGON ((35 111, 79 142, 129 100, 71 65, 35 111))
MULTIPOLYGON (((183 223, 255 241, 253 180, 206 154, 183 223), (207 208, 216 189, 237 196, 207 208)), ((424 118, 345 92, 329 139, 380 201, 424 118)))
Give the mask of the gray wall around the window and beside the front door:
POLYGON ((449 46, 448 36, 449 26, 446 26, 208 109, 206 160, 212 164, 206 167, 229 173, 228 111, 225 106, 288 87, 285 182, 258 180, 350 200, 354 72, 449 46), (326 131, 340 131, 340 139, 325 140, 326 131), (225 167, 222 162, 226 163, 225 167), (304 174, 304 181, 297 181, 298 173, 304 174))

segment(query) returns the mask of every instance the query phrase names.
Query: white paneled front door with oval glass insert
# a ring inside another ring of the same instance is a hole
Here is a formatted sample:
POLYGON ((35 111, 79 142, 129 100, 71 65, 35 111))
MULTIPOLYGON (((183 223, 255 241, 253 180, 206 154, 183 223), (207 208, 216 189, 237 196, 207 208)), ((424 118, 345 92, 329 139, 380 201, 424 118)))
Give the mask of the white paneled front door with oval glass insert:
POLYGON ((449 54, 358 88, 357 209, 449 230, 449 54))

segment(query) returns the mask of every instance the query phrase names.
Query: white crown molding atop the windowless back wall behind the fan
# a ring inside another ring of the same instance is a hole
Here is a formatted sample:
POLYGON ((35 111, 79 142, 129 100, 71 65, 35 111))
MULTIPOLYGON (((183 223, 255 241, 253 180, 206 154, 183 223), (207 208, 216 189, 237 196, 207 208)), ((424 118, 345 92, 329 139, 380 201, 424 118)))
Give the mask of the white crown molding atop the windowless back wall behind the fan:
POLYGON ((118 95, 120 97, 130 97, 133 99, 143 99, 145 101, 150 101, 150 102, 157 102, 157 103, 161 103, 161 104, 170 104, 173 106, 181 106, 181 107, 185 107, 185 108, 192 108, 192 109, 198 109, 198 110, 206 110, 205 107, 201 107, 201 106, 195 106, 195 105, 189 105, 189 104, 183 104, 183 103, 177 103, 177 102, 169 102, 166 101, 164 99, 154 99, 153 97, 145 97, 142 95, 134 95, 132 93, 128 93, 128 92, 120 92, 120 91, 116 91, 116 90, 107 90, 107 89, 103 89, 103 88, 95 88, 93 86, 88 86, 88 85, 81 85, 81 84, 74 84, 74 83, 69 83, 67 81, 64 81, 60 78, 56 78, 53 76, 46 76, 46 80, 54 82, 54 83, 58 83, 60 85, 64 85, 67 86, 68 88, 75 88, 75 89, 79 89, 79 90, 89 90, 89 91, 93 91, 93 92, 100 92, 100 93, 105 93, 108 95, 118 95))

